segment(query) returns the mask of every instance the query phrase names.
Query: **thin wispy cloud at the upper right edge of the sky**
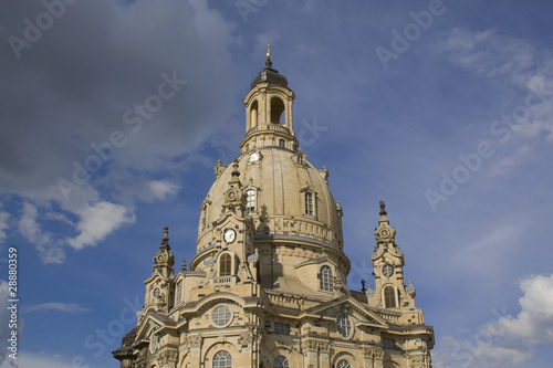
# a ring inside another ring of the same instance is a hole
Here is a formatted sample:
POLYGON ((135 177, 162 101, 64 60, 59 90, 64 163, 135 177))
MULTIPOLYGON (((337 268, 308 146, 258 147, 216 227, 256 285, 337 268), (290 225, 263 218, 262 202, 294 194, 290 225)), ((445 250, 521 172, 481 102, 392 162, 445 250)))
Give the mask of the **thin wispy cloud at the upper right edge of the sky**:
POLYGON ((553 54, 549 49, 492 29, 474 32, 456 28, 435 50, 498 86, 502 93, 497 97, 502 98, 504 106, 511 106, 511 114, 502 116, 500 126, 486 129, 493 135, 503 129, 501 143, 517 144, 502 149, 502 159, 491 176, 511 174, 528 159, 541 138, 553 143, 553 54))

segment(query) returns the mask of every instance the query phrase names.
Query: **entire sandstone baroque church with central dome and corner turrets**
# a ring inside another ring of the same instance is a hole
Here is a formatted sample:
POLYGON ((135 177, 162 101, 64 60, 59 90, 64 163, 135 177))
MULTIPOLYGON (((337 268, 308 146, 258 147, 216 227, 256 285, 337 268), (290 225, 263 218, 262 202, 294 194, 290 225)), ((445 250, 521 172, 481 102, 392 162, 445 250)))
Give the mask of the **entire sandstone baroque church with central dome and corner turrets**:
MULTIPOLYGON (((294 93, 265 67, 243 99, 246 137, 200 207, 196 256, 174 274, 164 231, 121 367, 430 368, 434 330, 404 285, 384 202, 367 254, 375 288, 347 288, 342 208, 293 129, 294 93)), ((363 284, 365 285, 365 284, 363 284)))

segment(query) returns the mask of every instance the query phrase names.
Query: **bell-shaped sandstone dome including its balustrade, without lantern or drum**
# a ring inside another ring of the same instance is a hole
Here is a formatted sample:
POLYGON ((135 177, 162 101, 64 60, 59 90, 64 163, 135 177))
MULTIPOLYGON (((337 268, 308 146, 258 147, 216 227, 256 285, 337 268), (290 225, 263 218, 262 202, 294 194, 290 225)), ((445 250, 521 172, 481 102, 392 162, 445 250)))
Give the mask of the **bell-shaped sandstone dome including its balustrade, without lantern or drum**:
POLYGON ((255 238, 278 236, 342 249, 342 210, 328 188, 325 168, 315 169, 302 151, 280 147, 250 149, 236 162, 238 168, 218 164, 220 174, 202 206, 198 251, 209 246, 215 231, 212 222, 221 215, 225 192, 237 169, 246 213, 254 221, 255 238))

